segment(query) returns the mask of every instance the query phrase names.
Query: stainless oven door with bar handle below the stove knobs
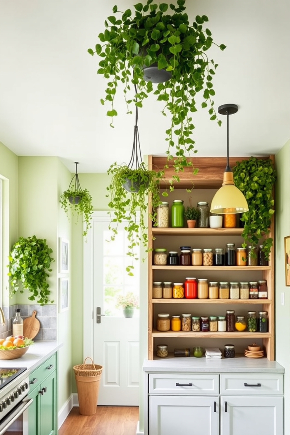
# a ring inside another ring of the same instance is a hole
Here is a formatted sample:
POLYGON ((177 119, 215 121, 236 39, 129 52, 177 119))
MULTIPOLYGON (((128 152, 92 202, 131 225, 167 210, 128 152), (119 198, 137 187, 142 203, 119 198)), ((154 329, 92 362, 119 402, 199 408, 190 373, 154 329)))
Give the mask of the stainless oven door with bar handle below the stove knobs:
POLYGON ((28 407, 33 399, 26 397, 0 422, 0 435, 29 435, 28 407))

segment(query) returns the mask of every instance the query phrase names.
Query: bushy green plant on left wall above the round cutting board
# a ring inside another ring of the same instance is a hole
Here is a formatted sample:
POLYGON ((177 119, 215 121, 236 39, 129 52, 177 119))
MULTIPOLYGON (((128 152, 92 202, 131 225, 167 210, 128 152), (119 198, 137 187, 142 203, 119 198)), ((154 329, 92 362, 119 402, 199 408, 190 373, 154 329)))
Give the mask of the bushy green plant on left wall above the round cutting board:
POLYGON ((50 269, 50 263, 54 261, 50 255, 52 252, 46 244, 46 239, 37 239, 35 235, 18 239, 9 256, 10 296, 18 290, 23 293, 27 289, 30 291, 28 297, 30 301, 38 298, 37 303, 40 305, 50 302, 47 271, 52 271, 50 269), (20 282, 22 287, 19 289, 20 282))

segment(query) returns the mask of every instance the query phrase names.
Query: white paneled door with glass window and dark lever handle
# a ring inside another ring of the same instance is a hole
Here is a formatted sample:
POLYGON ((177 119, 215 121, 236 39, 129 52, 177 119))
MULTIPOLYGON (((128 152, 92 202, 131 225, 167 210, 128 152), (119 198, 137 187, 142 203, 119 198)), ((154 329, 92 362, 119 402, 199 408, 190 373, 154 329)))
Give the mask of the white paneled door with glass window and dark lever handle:
MULTIPOLYGON (((93 361, 103 366, 98 405, 138 406, 139 310, 134 310, 133 318, 125 318, 123 310, 115 305, 118 295, 139 295, 139 262, 134 261, 134 276, 129 276, 125 224, 119 224, 115 241, 108 241, 109 221, 107 212, 95 211, 84 243, 84 259, 88 263, 87 270, 84 263, 84 291, 87 286, 93 293, 88 300, 84 296, 84 304, 89 307, 91 300, 93 306, 89 337, 85 327, 88 319, 84 318, 84 348, 85 340, 91 339, 93 361), (97 310, 101 316, 97 316, 97 310)), ((87 314, 91 310, 87 308, 87 314)))

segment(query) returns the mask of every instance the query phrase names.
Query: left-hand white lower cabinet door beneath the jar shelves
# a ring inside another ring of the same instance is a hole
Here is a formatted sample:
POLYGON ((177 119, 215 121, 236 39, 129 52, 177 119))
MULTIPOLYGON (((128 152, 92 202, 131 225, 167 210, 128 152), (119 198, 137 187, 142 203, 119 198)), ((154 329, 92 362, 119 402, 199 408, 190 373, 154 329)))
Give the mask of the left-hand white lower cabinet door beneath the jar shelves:
POLYGON ((219 433, 218 397, 150 396, 149 415, 149 435, 219 433))

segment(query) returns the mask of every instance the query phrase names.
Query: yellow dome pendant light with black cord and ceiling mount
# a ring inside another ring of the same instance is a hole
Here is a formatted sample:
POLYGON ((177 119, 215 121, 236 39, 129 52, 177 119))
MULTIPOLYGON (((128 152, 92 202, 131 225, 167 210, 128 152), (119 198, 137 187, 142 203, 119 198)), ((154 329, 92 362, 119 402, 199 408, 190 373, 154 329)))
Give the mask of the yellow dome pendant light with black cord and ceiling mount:
POLYGON ((237 104, 223 104, 218 108, 221 115, 227 115, 227 167, 223 173, 223 185, 211 201, 211 213, 235 214, 249 210, 246 198, 233 182, 233 172, 229 164, 229 115, 237 111, 237 104))

